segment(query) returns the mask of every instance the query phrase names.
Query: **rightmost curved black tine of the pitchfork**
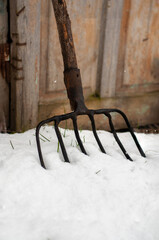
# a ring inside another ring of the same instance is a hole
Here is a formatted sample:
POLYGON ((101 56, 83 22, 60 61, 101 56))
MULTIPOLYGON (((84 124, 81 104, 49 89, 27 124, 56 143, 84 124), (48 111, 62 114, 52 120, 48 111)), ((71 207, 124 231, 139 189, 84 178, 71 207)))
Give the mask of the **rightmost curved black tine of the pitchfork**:
POLYGON ((137 137, 136 137, 135 134, 134 134, 133 128, 131 127, 131 125, 130 125, 130 123, 129 123, 129 120, 128 120, 127 116, 125 115, 125 113, 123 113, 123 112, 122 112, 121 110, 119 110, 119 109, 111 109, 111 110, 112 110, 111 112, 117 112, 117 113, 119 113, 119 114, 123 117, 123 119, 125 120, 126 125, 127 125, 127 127, 128 127, 128 130, 129 130, 132 138, 134 139, 134 142, 135 142, 135 144, 136 144, 136 146, 137 146, 137 148, 138 148, 141 156, 142 156, 142 157, 146 157, 143 149, 141 148, 141 146, 140 146, 140 144, 139 144, 139 142, 138 142, 138 140, 137 140, 137 137))

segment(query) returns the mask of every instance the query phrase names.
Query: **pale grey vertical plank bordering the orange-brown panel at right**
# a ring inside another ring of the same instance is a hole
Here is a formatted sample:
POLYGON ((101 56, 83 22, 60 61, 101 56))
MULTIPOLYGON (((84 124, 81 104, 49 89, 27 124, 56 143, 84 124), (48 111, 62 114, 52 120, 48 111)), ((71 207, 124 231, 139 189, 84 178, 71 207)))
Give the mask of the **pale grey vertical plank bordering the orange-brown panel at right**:
POLYGON ((101 76, 101 97, 113 97, 115 95, 123 3, 124 0, 108 1, 101 76))

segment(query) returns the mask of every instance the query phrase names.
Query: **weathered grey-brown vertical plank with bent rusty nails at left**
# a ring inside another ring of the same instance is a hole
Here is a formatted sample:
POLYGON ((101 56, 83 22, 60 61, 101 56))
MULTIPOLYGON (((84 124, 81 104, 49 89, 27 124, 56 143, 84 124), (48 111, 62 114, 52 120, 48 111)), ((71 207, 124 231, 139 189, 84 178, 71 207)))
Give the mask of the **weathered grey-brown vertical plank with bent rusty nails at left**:
POLYGON ((35 127, 39 100, 40 0, 11 1, 12 128, 35 127))

